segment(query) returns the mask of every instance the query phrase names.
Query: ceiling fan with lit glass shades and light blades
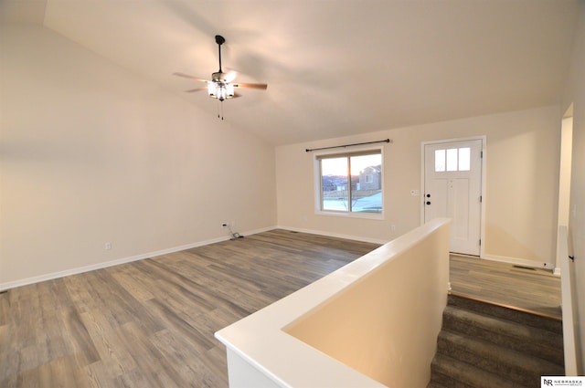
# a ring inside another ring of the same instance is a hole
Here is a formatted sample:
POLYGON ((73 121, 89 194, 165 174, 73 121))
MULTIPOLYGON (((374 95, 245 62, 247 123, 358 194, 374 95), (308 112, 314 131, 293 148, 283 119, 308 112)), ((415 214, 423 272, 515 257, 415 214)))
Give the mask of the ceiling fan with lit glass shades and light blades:
POLYGON ((238 97, 236 95, 234 89, 235 88, 250 88, 250 89, 266 89, 268 85, 264 83, 241 83, 237 82, 234 83, 233 80, 236 79, 237 73, 235 71, 229 71, 228 73, 224 73, 221 69, 221 45, 226 42, 226 39, 220 35, 216 35, 216 43, 218 44, 218 51, 219 51, 219 70, 216 73, 211 74, 211 80, 208 79, 198 79, 197 77, 189 76, 188 74, 184 73, 173 73, 173 75, 178 77, 184 77, 186 79, 195 79, 196 81, 205 82, 207 83, 207 88, 196 88, 186 90, 186 92, 193 92, 197 90, 207 89, 207 94, 209 97, 213 99, 218 99, 219 101, 223 101, 226 99, 231 99, 232 97, 238 97))

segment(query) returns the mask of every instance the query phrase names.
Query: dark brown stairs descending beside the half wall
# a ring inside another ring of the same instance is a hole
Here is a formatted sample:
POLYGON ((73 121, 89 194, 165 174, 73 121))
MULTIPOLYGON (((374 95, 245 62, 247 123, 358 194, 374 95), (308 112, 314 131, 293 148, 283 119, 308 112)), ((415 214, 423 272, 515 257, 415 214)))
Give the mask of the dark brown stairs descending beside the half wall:
POLYGON ((561 320, 449 296, 428 388, 539 387, 564 374, 561 320))

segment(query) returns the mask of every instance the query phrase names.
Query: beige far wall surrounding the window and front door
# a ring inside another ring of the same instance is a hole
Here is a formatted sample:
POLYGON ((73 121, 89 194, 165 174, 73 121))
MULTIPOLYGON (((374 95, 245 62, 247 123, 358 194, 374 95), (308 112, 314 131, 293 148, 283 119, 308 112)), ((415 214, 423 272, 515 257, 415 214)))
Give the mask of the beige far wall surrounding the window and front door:
POLYGON ((560 121, 557 106, 444 121, 362 136, 277 147, 278 224, 335 236, 388 241, 420 225, 420 143, 486 135, 485 257, 542 266, 556 257, 560 121), (385 145, 385 219, 314 213, 318 148, 392 139, 385 145), (396 231, 391 230, 396 225, 396 231))

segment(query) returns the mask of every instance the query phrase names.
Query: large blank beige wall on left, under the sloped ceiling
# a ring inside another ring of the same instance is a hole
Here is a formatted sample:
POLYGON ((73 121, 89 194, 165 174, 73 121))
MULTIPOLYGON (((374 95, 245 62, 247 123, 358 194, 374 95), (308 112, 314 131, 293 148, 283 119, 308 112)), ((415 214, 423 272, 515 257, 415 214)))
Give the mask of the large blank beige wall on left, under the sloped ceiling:
POLYGON ((0 38, 0 287, 275 225, 272 146, 42 26, 0 38))

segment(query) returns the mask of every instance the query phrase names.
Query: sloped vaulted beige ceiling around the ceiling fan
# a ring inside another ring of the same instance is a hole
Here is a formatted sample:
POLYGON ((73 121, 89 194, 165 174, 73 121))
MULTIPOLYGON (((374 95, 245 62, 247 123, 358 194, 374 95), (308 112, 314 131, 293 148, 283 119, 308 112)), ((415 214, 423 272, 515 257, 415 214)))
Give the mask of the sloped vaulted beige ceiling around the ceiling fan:
POLYGON ((273 144, 558 102, 579 0, 0 0, 0 23, 43 24, 273 144))

